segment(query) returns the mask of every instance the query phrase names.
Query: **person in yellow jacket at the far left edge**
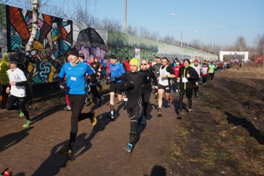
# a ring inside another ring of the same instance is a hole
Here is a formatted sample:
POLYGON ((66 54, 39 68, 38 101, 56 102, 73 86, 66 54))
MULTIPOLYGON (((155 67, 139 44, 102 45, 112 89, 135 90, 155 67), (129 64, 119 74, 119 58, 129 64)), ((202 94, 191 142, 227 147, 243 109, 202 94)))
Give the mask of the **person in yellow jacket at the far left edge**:
POLYGON ((3 91, 0 96, 0 104, 6 105, 8 95, 6 93, 7 85, 9 83, 7 70, 9 69, 8 55, 7 53, 3 54, 3 58, 0 58, 0 85, 3 86, 3 91))

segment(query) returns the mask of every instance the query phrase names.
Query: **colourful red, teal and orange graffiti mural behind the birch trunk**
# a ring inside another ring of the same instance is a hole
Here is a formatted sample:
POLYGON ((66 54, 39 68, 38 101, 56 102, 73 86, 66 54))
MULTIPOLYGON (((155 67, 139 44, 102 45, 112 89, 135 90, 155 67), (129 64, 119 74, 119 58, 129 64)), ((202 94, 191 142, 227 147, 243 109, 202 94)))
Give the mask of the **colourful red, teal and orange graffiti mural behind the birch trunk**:
MULTIPOLYGON (((9 51, 24 49, 32 30, 32 12, 16 7, 8 7, 9 51)), ((8 28, 7 28, 8 29, 8 28)), ((29 57, 36 63, 29 63, 29 79, 33 84, 53 82, 65 63, 64 53, 71 46, 71 21, 53 16, 38 15, 37 37, 29 57)))

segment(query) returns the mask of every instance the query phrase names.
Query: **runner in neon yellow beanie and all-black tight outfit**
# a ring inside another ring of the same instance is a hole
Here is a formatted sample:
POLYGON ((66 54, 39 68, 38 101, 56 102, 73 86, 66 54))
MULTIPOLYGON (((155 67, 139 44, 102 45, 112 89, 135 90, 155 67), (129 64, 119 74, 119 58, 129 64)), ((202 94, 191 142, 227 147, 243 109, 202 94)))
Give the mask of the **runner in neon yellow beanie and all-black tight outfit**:
POLYGON ((134 145, 134 139, 137 135, 137 122, 142 111, 142 86, 150 85, 146 74, 138 72, 139 59, 132 58, 130 60, 130 71, 122 76, 119 91, 127 92, 127 101, 125 101, 127 115, 130 118, 130 135, 129 143, 125 149, 131 153, 134 145))

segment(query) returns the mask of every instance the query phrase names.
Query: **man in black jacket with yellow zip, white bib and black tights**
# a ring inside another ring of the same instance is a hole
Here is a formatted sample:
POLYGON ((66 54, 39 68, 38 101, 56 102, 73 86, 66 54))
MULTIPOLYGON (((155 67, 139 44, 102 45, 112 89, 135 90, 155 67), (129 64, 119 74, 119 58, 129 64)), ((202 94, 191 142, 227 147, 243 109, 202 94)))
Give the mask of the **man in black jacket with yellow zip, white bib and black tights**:
POLYGON ((179 75, 177 77, 177 81, 179 83, 180 87, 180 96, 179 96, 179 114, 178 117, 181 117, 182 110, 183 110, 183 95, 186 93, 186 97, 188 99, 189 104, 189 110, 188 114, 191 113, 191 96, 192 96, 192 90, 193 90, 193 82, 194 80, 197 80, 199 78, 198 73, 196 70, 192 67, 189 67, 190 60, 184 59, 183 61, 184 66, 179 69, 179 75))

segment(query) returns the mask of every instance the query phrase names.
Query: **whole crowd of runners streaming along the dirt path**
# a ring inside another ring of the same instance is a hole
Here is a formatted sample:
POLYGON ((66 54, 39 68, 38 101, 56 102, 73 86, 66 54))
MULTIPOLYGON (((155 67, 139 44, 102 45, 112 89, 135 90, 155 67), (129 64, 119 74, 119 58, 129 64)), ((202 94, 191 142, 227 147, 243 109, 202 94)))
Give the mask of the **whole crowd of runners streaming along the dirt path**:
MULTIPOLYGON (((103 105, 100 95, 102 86, 100 76, 104 70, 107 73, 106 84, 110 85, 109 94, 109 113, 106 117, 114 120, 114 97, 117 94, 118 101, 125 102, 127 115, 130 119, 129 143, 125 148, 126 152, 131 153, 134 146, 134 139, 137 134, 137 125, 146 125, 148 116, 148 103, 153 92, 157 103, 157 116, 162 116, 162 99, 173 102, 170 94, 179 94, 178 100, 178 119, 183 114, 183 97, 188 100, 187 114, 192 112, 192 95, 199 96, 200 85, 206 86, 207 81, 213 81, 214 73, 231 67, 229 62, 219 61, 199 61, 185 58, 177 58, 171 63, 168 58, 155 57, 147 62, 146 58, 141 61, 138 58, 128 58, 122 63, 121 58, 115 55, 109 57, 109 62, 105 67, 98 62, 95 55, 89 56, 89 62, 84 62, 85 57, 76 48, 72 48, 67 53, 67 63, 60 70, 58 85, 59 88, 66 90, 67 106, 65 110, 71 110, 71 130, 69 143, 60 153, 64 156, 72 156, 73 146, 78 131, 78 122, 90 119, 92 125, 96 125, 97 119, 95 112, 81 113, 84 105, 94 102, 103 105), (99 90, 97 89, 99 87, 99 90), (99 102, 98 102, 99 101, 99 102)), ((29 112, 25 108, 25 86, 27 80, 24 73, 17 68, 18 60, 14 56, 9 62, 9 84, 4 90, 10 94, 7 99, 7 110, 19 109, 20 117, 25 116, 26 122, 23 125, 30 125, 29 112), (14 103, 19 101, 19 106, 14 103)))

